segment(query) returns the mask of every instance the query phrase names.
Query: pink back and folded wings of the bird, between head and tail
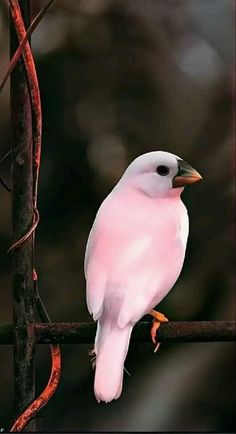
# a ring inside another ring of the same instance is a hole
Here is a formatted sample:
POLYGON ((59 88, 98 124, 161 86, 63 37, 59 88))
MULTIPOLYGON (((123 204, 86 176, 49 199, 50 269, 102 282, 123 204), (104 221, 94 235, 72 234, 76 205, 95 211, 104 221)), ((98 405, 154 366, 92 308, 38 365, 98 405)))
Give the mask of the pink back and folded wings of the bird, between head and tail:
MULTIPOLYGON (((175 215, 163 216, 155 208, 155 214, 152 210, 147 213, 144 224, 143 216, 140 219, 129 212, 124 217, 117 209, 114 212, 116 205, 111 200, 108 205, 101 207, 86 249, 87 304, 95 319, 106 305, 124 327, 138 321, 174 285, 186 242, 182 245, 177 236, 175 215)), ((124 209, 127 207, 122 207, 122 212, 124 209)))

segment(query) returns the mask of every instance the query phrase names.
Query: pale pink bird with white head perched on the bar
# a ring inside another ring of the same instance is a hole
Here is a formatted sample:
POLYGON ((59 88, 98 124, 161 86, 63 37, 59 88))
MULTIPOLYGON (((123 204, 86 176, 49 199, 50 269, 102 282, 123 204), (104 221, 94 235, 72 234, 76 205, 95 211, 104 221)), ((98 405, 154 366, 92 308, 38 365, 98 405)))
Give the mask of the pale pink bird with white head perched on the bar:
POLYGON ((184 263, 189 218, 181 193, 201 179, 177 155, 148 152, 131 162, 98 209, 84 260, 87 307, 97 321, 98 402, 121 395, 135 323, 150 313, 155 343, 160 323, 168 321, 154 307, 172 289, 184 263))

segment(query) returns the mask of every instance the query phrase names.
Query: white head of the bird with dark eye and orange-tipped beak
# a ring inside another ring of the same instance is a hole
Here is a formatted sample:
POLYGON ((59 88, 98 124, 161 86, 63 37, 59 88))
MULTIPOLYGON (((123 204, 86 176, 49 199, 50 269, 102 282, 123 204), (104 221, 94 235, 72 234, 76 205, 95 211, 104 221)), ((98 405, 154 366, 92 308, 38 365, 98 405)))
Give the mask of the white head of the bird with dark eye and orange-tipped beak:
POLYGON ((178 196, 201 175, 177 155, 164 151, 148 152, 136 158, 126 169, 121 182, 150 197, 178 196))

